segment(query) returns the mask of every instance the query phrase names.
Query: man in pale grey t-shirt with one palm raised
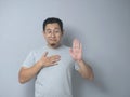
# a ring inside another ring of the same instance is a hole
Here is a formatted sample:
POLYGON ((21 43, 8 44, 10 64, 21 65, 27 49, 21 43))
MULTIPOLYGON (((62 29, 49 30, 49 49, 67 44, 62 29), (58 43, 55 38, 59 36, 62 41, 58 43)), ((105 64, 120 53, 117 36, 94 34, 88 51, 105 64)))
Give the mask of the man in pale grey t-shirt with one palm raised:
POLYGON ((75 39, 73 47, 61 44, 63 23, 51 17, 43 23, 47 45, 31 51, 20 70, 20 82, 25 83, 37 77, 35 97, 73 97, 72 72, 74 68, 84 79, 92 80, 93 72, 82 59, 82 45, 75 39))

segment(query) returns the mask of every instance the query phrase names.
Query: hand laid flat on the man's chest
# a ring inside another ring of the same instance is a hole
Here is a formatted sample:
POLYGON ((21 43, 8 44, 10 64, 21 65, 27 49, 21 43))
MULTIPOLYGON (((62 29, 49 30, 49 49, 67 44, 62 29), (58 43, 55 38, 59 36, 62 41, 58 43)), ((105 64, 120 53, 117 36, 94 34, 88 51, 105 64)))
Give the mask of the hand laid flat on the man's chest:
POLYGON ((41 57, 41 59, 39 60, 39 63, 42 67, 49 67, 49 66, 57 65, 57 61, 61 58, 60 55, 52 55, 50 57, 48 57, 47 55, 48 55, 48 52, 46 52, 43 54, 43 56, 41 57))

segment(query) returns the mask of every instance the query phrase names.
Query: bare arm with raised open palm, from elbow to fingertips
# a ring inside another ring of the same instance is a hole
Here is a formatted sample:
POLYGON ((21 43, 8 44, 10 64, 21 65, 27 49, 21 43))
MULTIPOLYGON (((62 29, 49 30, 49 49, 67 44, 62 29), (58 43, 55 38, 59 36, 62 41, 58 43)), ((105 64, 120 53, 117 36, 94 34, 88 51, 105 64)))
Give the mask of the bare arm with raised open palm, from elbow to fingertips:
POLYGON ((78 63, 80 67, 78 72, 81 74, 81 77, 89 80, 93 80, 94 74, 92 68, 83 61, 82 45, 77 39, 75 39, 73 42, 73 47, 70 48, 70 55, 78 63))

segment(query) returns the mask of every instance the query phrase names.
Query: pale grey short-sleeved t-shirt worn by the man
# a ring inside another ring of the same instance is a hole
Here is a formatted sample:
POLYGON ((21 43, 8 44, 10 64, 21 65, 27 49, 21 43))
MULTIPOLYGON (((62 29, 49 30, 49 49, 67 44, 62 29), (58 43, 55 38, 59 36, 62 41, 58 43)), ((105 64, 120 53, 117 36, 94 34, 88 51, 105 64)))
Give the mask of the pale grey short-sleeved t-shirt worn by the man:
POLYGON ((61 45, 57 48, 43 46, 31 51, 23 63, 24 67, 31 67, 41 56, 48 52, 48 56, 60 55, 58 65, 46 67, 37 74, 35 84, 35 97, 73 97, 72 72, 79 69, 69 54, 69 47, 61 45))

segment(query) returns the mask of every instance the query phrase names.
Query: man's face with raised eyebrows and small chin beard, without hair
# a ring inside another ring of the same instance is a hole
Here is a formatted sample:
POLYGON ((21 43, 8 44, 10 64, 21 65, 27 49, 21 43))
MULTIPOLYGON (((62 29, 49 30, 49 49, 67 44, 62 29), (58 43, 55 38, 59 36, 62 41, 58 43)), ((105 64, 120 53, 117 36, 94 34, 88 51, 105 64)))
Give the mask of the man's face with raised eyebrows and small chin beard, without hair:
POLYGON ((43 36, 51 47, 57 47, 60 45, 63 32, 57 23, 48 24, 46 26, 43 36))

